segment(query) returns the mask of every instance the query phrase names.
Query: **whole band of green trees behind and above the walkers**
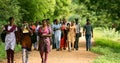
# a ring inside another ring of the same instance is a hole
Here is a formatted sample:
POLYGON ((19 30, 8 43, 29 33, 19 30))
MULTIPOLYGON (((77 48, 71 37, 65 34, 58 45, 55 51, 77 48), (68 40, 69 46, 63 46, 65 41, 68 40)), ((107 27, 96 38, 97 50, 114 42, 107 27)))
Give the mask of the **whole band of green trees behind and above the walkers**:
MULTIPOLYGON (((94 26, 120 27, 119 0, 0 0, 0 21, 14 16, 17 23, 44 18, 90 18, 94 26), (107 24, 106 24, 107 23, 107 24)), ((3 22, 2 22, 3 24, 3 22)))

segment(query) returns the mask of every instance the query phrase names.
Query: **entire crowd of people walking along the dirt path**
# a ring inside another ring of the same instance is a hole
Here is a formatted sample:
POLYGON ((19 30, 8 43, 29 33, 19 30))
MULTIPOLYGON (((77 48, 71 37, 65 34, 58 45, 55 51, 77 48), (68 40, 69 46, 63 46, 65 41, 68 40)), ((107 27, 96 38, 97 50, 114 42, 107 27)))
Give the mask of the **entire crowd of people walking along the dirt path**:
MULTIPOLYGON (((7 63, 14 63, 14 48, 17 42, 22 47, 22 62, 28 63, 28 51, 31 51, 32 44, 34 50, 38 50, 42 63, 47 63, 48 53, 52 49, 56 51, 78 50, 79 37, 81 36, 80 24, 78 19, 67 22, 66 19, 59 21, 55 19, 53 24, 49 19, 42 20, 42 24, 36 21, 35 24, 28 24, 27 21, 22 23, 21 27, 14 25, 14 18, 9 18, 9 24, 3 27, 6 32, 5 50, 7 53, 7 63)), ((91 48, 91 36, 93 37, 93 28, 87 19, 83 27, 83 35, 86 37, 86 50, 91 48)))

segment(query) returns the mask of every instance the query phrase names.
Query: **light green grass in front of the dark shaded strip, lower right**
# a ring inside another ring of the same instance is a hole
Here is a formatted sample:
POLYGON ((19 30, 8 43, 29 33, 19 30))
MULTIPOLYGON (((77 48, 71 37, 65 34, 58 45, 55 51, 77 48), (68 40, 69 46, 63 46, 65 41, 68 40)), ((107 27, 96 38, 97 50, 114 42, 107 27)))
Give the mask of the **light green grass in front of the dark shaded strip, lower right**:
POLYGON ((120 49, 111 48, 108 46, 95 46, 92 52, 102 54, 94 60, 94 63, 119 63, 120 49))

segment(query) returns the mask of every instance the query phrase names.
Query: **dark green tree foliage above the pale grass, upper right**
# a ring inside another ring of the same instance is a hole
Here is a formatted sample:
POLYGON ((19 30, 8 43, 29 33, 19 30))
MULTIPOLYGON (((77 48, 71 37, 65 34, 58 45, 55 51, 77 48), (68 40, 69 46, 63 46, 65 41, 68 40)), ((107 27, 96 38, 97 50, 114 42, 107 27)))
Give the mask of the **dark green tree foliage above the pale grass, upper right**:
POLYGON ((94 26, 120 27, 119 0, 72 0, 78 7, 75 13, 90 18, 94 26), (81 6, 83 6, 81 8, 81 6), (107 24, 106 24, 107 23, 107 24))

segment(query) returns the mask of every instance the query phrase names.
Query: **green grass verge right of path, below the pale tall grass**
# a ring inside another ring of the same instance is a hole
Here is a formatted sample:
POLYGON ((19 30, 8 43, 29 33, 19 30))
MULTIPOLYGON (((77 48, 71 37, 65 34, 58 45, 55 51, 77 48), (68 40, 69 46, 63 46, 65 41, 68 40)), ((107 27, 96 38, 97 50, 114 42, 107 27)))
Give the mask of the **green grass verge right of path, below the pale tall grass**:
POLYGON ((108 39, 95 39, 92 52, 101 54, 94 63, 120 63, 120 43, 108 39))

